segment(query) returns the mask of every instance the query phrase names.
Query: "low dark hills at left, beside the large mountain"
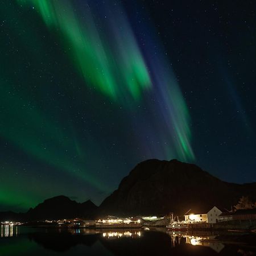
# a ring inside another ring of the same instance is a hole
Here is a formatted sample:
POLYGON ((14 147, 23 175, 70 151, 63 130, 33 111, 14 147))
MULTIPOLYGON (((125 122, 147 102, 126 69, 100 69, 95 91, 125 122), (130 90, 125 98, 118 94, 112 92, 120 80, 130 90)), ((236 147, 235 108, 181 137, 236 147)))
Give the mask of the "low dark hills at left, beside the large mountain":
POLYGON ((77 203, 67 196, 56 196, 44 200, 43 203, 31 208, 27 213, 0 212, 0 221, 38 221, 60 220, 64 218, 95 218, 98 207, 88 200, 77 203))

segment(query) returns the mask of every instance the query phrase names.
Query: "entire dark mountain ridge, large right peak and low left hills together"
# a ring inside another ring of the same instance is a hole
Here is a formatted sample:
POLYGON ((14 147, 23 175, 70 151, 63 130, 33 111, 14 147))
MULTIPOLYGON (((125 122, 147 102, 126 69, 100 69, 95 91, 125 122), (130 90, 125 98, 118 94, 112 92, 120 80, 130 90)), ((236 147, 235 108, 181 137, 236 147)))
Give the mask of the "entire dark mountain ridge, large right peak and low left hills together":
POLYGON ((222 181, 196 164, 177 159, 148 159, 123 177, 118 188, 97 207, 91 200, 77 203, 67 196, 55 196, 26 213, 0 212, 0 220, 51 220, 94 218, 108 214, 183 214, 190 208, 216 205, 229 209, 241 196, 256 201, 256 183, 222 181), (152 207, 154 205, 154 207, 152 207))

